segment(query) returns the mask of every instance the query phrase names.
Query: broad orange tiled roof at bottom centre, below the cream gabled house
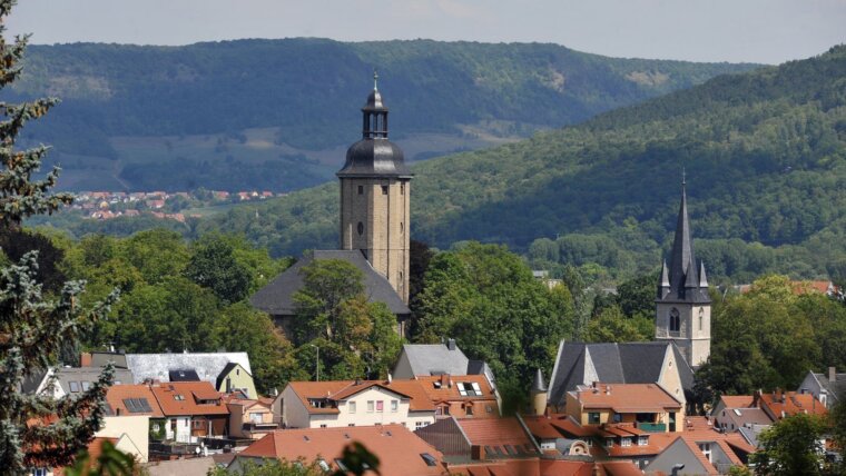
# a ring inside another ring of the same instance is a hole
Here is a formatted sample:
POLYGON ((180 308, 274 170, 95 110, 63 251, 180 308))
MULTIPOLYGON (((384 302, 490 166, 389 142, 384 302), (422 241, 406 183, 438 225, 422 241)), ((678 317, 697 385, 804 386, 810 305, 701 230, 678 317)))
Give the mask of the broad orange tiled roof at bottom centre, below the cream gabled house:
POLYGON ((343 470, 342 452, 352 442, 378 457, 383 475, 444 474, 441 453, 402 425, 276 430, 249 445, 237 458, 321 458, 328 468, 343 470))

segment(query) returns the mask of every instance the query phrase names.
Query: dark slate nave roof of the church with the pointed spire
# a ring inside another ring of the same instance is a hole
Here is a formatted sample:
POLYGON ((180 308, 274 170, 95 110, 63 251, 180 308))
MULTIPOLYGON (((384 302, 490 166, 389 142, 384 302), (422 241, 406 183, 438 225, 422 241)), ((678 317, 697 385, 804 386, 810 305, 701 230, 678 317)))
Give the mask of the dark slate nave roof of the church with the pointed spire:
POLYGON ((550 381, 549 403, 563 405, 567 393, 577 385, 592 381, 607 384, 653 384, 658 381, 667 346, 676 355, 676 364, 686 395, 693 388, 693 370, 672 341, 584 344, 561 343, 550 381))

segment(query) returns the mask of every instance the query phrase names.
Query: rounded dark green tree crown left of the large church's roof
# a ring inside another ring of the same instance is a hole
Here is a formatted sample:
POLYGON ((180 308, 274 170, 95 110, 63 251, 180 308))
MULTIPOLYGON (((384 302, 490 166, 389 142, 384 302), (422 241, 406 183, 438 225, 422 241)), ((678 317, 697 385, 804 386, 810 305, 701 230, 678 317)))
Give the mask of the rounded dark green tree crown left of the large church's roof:
POLYGON ((224 303, 237 303, 250 289, 247 268, 235 259, 235 250, 219 236, 208 236, 193 247, 185 276, 209 288, 224 303))

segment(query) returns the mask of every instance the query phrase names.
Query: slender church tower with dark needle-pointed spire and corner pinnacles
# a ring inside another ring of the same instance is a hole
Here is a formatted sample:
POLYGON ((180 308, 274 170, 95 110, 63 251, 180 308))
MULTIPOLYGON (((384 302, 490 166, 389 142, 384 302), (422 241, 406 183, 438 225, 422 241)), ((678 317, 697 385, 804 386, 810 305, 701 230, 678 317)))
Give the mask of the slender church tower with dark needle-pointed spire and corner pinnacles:
POLYGON ((696 368, 711 353, 711 299, 705 264, 693 257, 685 187, 682 180, 670 266, 663 261, 658 282, 655 337, 676 341, 688 364, 696 368))

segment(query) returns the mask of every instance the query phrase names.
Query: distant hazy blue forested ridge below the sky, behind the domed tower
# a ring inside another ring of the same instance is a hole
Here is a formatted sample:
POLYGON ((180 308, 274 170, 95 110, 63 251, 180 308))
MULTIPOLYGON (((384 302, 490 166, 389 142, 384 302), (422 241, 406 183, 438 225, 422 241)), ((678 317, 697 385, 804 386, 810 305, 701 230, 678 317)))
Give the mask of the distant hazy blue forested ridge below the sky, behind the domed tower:
POLYGON ((754 67, 540 43, 75 43, 30 47, 13 96, 62 99, 26 130, 55 146, 61 187, 289 190, 334 177, 337 148, 360 133, 374 68, 396 112, 394 138, 434 135, 406 147, 420 159, 529 137, 754 67))

